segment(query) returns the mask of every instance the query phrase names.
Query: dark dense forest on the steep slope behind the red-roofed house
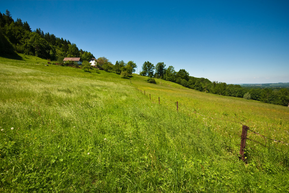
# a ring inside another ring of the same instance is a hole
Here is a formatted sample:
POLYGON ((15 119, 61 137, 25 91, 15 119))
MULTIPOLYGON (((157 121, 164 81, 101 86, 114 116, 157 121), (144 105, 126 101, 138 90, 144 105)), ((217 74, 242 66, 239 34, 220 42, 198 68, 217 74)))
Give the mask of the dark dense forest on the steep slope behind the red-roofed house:
POLYGON ((14 21, 10 11, 0 12, 0 53, 27 54, 51 61, 63 62, 64 57, 80 57, 82 61, 94 58, 88 51, 78 49, 69 40, 57 38, 49 32, 44 33, 40 28, 32 31, 27 21, 20 18, 14 21))

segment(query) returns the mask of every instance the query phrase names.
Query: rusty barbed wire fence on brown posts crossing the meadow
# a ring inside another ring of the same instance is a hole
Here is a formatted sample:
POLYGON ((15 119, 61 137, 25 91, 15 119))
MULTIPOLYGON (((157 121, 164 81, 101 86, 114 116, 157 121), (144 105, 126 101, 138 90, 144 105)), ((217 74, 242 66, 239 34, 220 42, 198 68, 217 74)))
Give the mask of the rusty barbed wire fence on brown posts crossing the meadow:
MULTIPOLYGON (((216 118, 216 117, 210 117, 210 116, 207 116, 207 115, 202 115, 198 112, 196 112, 195 110, 192 110, 192 109, 189 109, 187 106, 185 106, 184 104, 181 104, 179 103, 178 101, 176 102, 172 102, 172 101, 169 101, 168 99, 166 99, 164 96, 162 97, 153 97, 151 95, 151 93, 145 93, 145 90, 141 90, 140 88, 138 87, 135 87, 135 89, 137 89, 138 91, 140 91, 141 93, 143 93, 144 95, 146 96, 149 96, 150 100, 153 102, 153 103, 157 103, 158 104, 165 104, 168 108, 171 108, 171 109, 176 109, 177 112, 179 112, 179 106, 181 106, 183 109, 186 109, 188 112, 191 112, 191 113, 194 113, 194 114, 197 114, 197 115, 200 115, 200 116, 203 116, 203 117, 207 117, 207 118, 210 118, 210 119, 217 119, 217 120, 222 120, 222 121, 227 121, 227 122, 233 122, 233 123, 237 123, 237 124, 241 124, 242 125, 242 133, 241 133, 241 143, 238 144, 238 146, 240 146, 240 159, 244 162, 246 162, 246 157, 244 156, 244 152, 245 152, 245 149, 246 149, 246 140, 250 140, 252 142, 255 142, 255 143, 258 143, 260 144, 261 146, 263 147, 266 147, 267 148, 267 140, 271 140, 271 141, 275 141, 275 142, 280 142, 280 143, 283 143, 285 145, 288 145, 289 143, 288 142, 284 142, 284 141, 281 141, 281 140, 278 140, 278 139, 272 139, 270 137, 266 137, 264 135, 261 135, 259 132, 256 132, 256 131, 253 131, 250 129, 250 127, 244 125, 243 123, 239 122, 239 121, 232 121, 232 120, 228 120, 228 119, 222 119, 222 118, 216 118), (252 133, 247 133, 247 131, 251 131, 252 133), (265 144, 263 144, 262 142, 259 142, 255 139, 250 139, 248 138, 248 135, 249 134, 256 134, 260 137, 262 137, 262 139, 264 139, 264 142, 265 144)), ((268 124, 267 124, 268 126, 268 124)), ((239 136, 240 137, 240 136, 239 136)))

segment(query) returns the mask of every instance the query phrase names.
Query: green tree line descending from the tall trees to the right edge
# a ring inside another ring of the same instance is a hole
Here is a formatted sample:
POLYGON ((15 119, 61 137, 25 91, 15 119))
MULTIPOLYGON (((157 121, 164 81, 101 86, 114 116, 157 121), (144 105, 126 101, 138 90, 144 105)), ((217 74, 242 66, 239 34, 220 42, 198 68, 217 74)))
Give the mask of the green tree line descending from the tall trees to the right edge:
POLYGON ((238 84, 226 84, 225 82, 210 81, 207 78, 196 78, 190 76, 185 69, 175 71, 173 66, 165 68, 163 62, 156 66, 149 61, 144 62, 140 75, 160 78, 166 81, 175 82, 184 87, 198 90, 205 93, 219 94, 223 96, 235 96, 245 99, 258 100, 264 103, 272 103, 289 107, 289 89, 288 88, 253 88, 241 87, 238 84))

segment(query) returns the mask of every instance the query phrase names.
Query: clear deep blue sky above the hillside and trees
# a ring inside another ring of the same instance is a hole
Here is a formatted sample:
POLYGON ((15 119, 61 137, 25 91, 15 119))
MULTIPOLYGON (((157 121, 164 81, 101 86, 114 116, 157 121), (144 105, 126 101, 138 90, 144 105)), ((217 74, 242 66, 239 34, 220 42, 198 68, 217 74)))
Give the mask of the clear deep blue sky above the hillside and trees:
POLYGON ((289 82, 289 1, 0 1, 96 58, 227 84, 289 82))

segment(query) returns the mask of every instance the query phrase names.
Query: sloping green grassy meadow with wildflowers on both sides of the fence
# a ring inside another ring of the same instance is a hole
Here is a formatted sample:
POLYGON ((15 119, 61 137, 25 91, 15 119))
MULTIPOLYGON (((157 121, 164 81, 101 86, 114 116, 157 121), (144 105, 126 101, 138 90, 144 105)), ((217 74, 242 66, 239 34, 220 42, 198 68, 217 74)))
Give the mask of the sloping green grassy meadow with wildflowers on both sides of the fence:
POLYGON ((20 57, 0 57, 1 192, 289 190, 285 106, 20 57), (244 163, 242 124, 282 142, 248 131, 244 163))

